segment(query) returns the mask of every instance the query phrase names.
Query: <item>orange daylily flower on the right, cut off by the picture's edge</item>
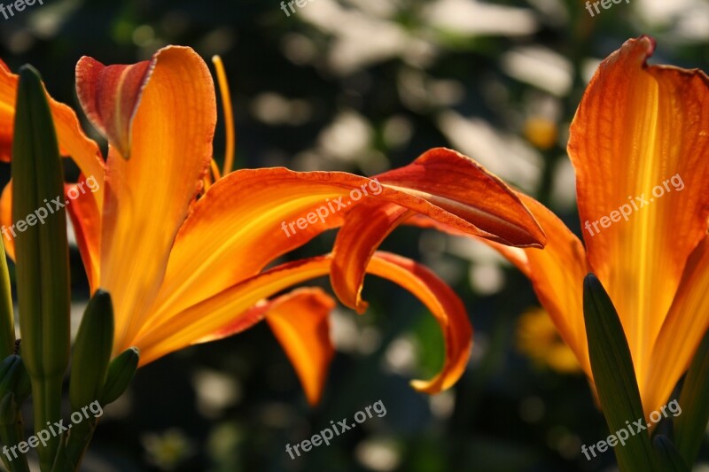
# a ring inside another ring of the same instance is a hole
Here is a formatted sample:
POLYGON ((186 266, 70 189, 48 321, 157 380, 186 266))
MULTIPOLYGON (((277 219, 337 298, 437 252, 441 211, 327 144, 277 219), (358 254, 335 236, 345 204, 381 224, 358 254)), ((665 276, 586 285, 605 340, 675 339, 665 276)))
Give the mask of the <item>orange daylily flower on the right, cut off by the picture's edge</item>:
POLYGON ((606 58, 573 119, 585 248, 524 195, 549 236, 544 251, 492 244, 533 282, 591 379, 582 281, 596 273, 623 324, 646 414, 665 404, 709 328, 709 78, 648 66, 654 48, 641 36, 606 58))

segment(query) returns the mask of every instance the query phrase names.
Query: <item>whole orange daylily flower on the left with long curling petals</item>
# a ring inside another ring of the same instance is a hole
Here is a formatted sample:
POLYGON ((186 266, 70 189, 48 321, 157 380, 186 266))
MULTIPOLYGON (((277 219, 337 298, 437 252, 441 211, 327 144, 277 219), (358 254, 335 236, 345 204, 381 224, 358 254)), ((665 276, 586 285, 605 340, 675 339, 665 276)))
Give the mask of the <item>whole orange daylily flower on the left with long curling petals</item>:
MULTIPOLYGON (((0 143, 10 144, 16 77, 6 67, 0 72, 0 143)), ((114 301, 113 354, 137 346, 142 365, 265 319, 308 399, 316 402, 332 356, 327 320, 333 301, 313 288, 281 293, 330 274, 339 297, 362 311, 359 293, 366 272, 411 291, 439 322, 446 360, 439 375, 414 386, 441 391, 464 371, 470 321, 455 293, 425 267, 376 252, 383 239, 378 231, 386 227, 388 233, 404 217, 421 214, 498 244, 541 247, 545 240, 512 190, 471 159, 446 149, 428 151, 378 180, 277 167, 238 170, 221 178, 214 173, 212 183, 205 177, 213 165, 214 83, 190 48, 169 46, 131 66, 82 58, 76 87, 84 112, 105 135, 109 150, 104 161, 73 112, 53 104, 62 150, 83 177, 93 175, 101 184, 67 209, 91 290, 108 290, 114 301), (374 184, 380 190, 376 196, 370 193, 341 213, 308 220, 307 228, 299 225, 295 234, 284 235, 283 221, 302 218, 353 190, 374 190, 374 184), (332 254, 265 270, 343 224, 332 254)), ((5 191, 2 208, 9 208, 9 198, 5 191)), ((9 222, 9 211, 0 217, 9 222)))

